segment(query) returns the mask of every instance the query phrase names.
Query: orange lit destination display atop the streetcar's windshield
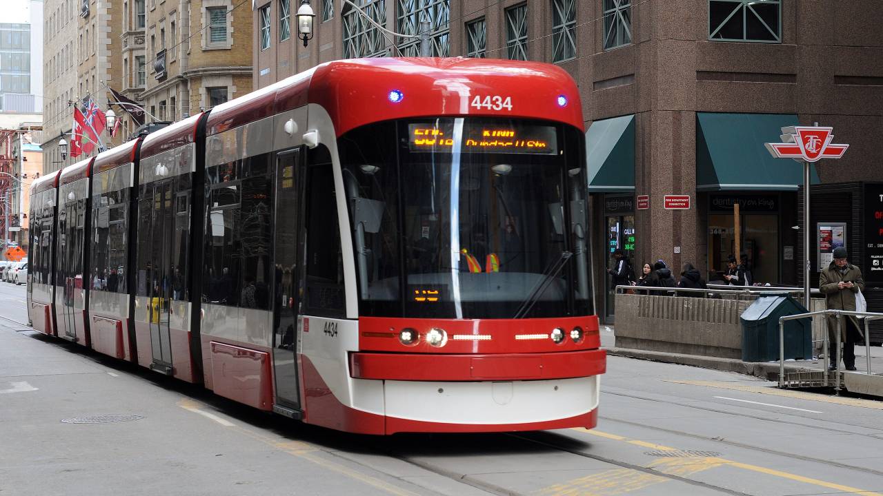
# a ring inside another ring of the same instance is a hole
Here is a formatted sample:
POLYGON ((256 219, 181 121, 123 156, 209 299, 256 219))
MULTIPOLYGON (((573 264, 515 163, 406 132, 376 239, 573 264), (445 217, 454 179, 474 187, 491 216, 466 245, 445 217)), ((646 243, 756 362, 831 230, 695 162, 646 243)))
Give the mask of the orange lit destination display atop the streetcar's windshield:
MULTIPOLYGON (((408 124, 408 147, 411 152, 449 154, 454 150, 454 123, 408 124)), ((536 124, 464 125, 463 153, 472 154, 543 154, 558 153, 555 127, 536 124)))

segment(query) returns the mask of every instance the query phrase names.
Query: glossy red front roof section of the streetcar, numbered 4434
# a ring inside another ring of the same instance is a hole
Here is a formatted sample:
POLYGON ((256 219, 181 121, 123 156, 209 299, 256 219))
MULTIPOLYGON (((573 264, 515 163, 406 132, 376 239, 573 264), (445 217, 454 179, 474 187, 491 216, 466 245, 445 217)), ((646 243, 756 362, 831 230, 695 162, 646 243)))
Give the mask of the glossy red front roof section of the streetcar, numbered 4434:
POLYGON ((419 116, 532 118, 585 129, 577 85, 557 65, 464 57, 369 57, 321 64, 218 105, 208 116, 206 133, 223 132, 306 103, 326 109, 338 135, 364 124, 419 116), (389 100, 392 91, 400 92, 401 101, 389 100), (559 96, 566 99, 563 105, 559 96), (493 109, 494 97, 509 98, 511 109, 493 109))

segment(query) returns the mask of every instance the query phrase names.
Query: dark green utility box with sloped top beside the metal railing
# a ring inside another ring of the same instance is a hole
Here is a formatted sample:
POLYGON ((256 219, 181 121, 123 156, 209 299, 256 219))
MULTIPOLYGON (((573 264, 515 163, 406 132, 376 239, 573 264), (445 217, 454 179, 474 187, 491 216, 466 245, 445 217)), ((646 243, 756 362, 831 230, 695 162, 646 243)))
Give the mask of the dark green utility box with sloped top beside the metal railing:
MULTIPOLYGON (((779 360, 779 318, 806 313, 804 305, 789 295, 758 297, 744 312, 742 322, 742 361, 779 360)), ((812 357, 812 319, 785 321, 785 358, 812 357)))

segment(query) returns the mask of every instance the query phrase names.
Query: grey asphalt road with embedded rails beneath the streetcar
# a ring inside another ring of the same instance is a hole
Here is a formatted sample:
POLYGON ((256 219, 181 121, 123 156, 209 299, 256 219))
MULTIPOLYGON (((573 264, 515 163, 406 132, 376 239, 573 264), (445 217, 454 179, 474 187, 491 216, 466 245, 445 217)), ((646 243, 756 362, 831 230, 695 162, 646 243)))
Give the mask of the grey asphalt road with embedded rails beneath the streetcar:
POLYGON ((591 432, 356 436, 23 330, 24 301, 0 283, 3 496, 883 495, 883 402, 610 357, 591 432))

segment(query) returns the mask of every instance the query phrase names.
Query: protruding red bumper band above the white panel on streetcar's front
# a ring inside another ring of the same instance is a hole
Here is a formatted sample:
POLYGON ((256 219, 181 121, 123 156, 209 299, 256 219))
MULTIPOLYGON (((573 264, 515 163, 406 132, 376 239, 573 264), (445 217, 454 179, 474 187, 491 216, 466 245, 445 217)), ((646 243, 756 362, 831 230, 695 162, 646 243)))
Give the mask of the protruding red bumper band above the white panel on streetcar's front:
POLYGON ((353 353, 350 375, 373 380, 550 380, 604 373, 603 349, 565 353, 426 355, 353 353))

